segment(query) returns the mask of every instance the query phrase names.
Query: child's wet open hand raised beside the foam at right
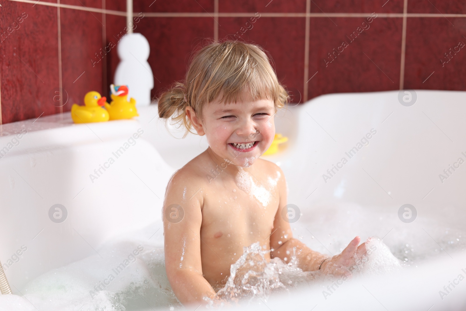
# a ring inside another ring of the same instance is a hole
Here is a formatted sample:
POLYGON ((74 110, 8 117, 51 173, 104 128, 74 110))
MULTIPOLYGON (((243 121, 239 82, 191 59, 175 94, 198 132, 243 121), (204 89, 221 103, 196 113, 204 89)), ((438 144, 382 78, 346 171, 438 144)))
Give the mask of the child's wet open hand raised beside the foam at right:
POLYGON ((355 256, 361 257, 366 254, 366 243, 359 244, 361 238, 356 236, 353 241, 349 242, 348 246, 343 249, 341 254, 326 259, 321 264, 322 273, 333 274, 335 276, 350 276, 351 270, 355 264, 355 256))

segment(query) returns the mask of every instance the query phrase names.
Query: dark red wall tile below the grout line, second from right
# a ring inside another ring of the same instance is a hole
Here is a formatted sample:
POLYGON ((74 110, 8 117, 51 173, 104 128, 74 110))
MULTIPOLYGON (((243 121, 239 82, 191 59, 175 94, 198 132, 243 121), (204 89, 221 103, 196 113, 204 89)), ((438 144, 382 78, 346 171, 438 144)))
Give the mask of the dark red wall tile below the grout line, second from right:
POLYGON ((308 82, 309 98, 326 93, 397 90, 402 24, 401 18, 377 17, 370 23, 363 17, 312 19, 309 78, 315 76, 308 82))

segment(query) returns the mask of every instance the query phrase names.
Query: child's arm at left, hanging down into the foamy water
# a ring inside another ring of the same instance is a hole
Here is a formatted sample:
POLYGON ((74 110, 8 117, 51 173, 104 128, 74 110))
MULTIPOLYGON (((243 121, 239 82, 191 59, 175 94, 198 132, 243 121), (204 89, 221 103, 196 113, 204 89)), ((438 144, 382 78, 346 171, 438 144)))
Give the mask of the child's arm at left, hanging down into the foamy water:
POLYGON ((205 304, 202 297, 213 297, 215 291, 202 275, 202 194, 199 191, 189 199, 197 191, 190 189, 190 180, 188 173, 178 171, 167 186, 163 209, 165 270, 182 304, 205 304))

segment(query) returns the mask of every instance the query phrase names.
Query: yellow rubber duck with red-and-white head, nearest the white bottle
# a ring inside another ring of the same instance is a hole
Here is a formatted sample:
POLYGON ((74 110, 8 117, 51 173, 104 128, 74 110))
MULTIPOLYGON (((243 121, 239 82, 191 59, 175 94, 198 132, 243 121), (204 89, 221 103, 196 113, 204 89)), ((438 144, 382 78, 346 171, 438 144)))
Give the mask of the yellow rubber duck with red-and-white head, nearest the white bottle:
POLYGON ((136 109, 136 100, 131 97, 128 102, 128 87, 126 85, 110 85, 112 101, 105 103, 105 108, 109 111, 110 120, 130 119, 139 114, 136 109))

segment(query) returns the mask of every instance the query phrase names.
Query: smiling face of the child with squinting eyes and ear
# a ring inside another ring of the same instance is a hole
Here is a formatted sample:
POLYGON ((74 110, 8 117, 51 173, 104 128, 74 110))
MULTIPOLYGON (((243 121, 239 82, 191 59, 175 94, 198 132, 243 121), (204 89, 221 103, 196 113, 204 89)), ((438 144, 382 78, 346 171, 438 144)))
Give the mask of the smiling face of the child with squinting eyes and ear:
POLYGON ((206 104, 201 122, 191 107, 186 108, 186 114, 198 134, 206 135, 217 160, 228 159, 236 166, 248 167, 274 140, 275 108, 272 100, 253 101, 249 93, 242 95, 236 103, 224 104, 217 99, 206 104))

